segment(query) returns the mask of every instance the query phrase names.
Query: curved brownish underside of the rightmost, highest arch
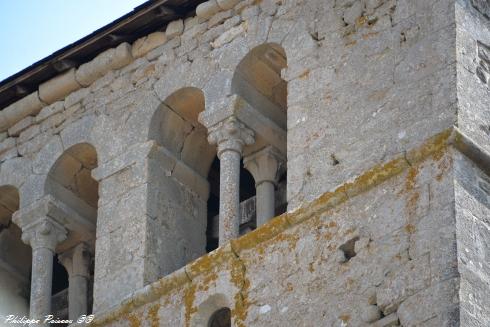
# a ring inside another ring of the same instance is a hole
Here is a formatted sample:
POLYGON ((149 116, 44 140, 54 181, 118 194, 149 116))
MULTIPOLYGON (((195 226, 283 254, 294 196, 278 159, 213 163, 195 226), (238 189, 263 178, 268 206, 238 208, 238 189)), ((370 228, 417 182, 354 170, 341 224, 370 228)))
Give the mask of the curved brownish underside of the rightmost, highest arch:
POLYGON ((231 82, 231 93, 241 96, 284 129, 287 83, 282 79, 281 71, 286 67, 286 52, 282 46, 261 44, 240 61, 231 82))

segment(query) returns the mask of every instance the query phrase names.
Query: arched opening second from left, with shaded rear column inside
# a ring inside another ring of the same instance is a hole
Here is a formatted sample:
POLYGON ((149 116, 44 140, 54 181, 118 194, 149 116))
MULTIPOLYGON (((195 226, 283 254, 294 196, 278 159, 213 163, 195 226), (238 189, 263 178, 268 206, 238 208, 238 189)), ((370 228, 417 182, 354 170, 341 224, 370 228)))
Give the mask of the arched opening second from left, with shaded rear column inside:
MULTIPOLYGON (((91 172, 97 167, 97 153, 95 148, 87 143, 74 145, 67 149, 51 168, 45 186, 46 194, 51 195, 57 203, 77 218, 70 222, 68 238, 58 246, 57 254, 53 260, 52 284, 52 311, 56 317, 68 318, 69 274, 71 266, 80 263, 74 262, 74 249, 80 246, 87 248, 90 260, 84 263, 88 274, 86 276, 87 314, 92 312, 93 271, 95 254, 95 226, 97 221, 97 205, 99 200, 99 185, 92 178, 91 172), (78 224, 83 220, 82 225, 78 224), (78 225, 77 225, 78 224, 78 225), (83 226, 83 227, 82 227, 83 226), (88 228, 86 226, 91 226, 88 228), (64 261, 61 258, 69 257, 73 261, 64 261)), ((77 287, 80 289, 80 287, 77 287)), ((76 289, 76 287, 72 288, 76 289)), ((72 290, 73 292, 73 290, 72 290)))

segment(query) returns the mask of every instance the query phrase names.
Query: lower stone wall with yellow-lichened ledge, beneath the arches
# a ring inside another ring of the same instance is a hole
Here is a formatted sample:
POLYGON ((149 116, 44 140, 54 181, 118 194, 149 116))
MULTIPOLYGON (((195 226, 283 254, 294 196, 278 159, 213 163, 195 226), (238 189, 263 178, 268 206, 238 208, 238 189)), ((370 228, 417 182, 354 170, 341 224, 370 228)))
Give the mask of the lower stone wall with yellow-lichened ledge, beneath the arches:
POLYGON ((205 326, 225 306, 233 326, 458 326, 448 136, 135 292, 95 325, 205 326))

